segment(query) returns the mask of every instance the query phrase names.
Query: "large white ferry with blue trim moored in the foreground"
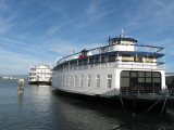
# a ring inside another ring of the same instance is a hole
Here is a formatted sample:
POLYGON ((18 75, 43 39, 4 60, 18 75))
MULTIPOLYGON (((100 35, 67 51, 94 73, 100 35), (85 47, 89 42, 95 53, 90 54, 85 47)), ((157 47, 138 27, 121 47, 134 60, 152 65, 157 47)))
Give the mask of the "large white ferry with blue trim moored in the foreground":
POLYGON ((123 32, 109 37, 108 42, 59 60, 53 67, 52 87, 80 99, 161 109, 167 96, 164 48, 138 44, 123 32))

